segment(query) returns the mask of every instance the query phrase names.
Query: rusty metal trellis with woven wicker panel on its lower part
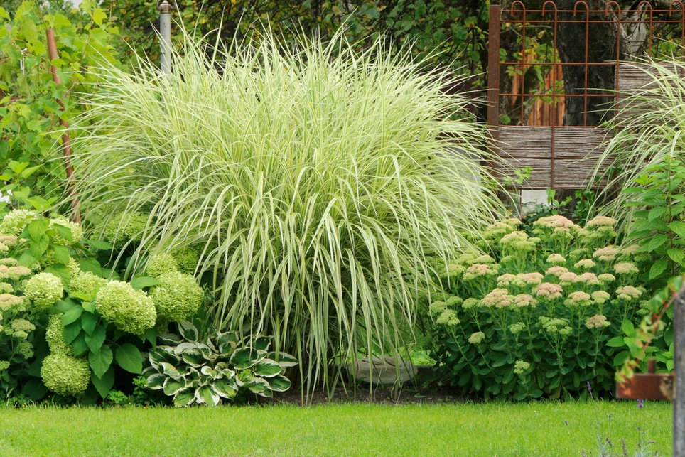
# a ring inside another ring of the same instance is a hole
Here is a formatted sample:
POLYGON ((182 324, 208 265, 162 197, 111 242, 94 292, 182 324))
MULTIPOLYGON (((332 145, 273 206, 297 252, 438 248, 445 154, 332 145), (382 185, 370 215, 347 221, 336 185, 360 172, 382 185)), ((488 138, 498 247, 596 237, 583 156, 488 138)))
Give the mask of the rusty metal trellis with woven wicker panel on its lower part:
MULTIPOLYGON (((659 41, 659 34, 664 31, 671 33, 671 41, 675 41, 682 52, 685 49, 684 11, 681 0, 673 1, 669 9, 654 9, 648 1, 642 0, 632 10, 622 10, 613 0, 598 10, 590 9, 583 0, 577 1, 573 9, 558 9, 551 0, 545 1, 540 9, 527 9, 520 0, 513 1, 506 9, 490 5, 487 123, 500 154, 510 164, 501 173, 512 174, 516 168, 530 166, 529 188, 585 187, 594 164, 592 158, 600 153, 609 134, 607 129, 596 125, 597 122, 592 125, 593 122, 588 121, 588 114, 593 114, 591 107, 601 100, 618 102, 623 87, 630 89, 646 82, 644 72, 629 71, 630 65, 618 59, 590 58, 593 47, 598 45, 590 41, 590 28, 597 24, 615 28, 615 43, 608 45, 613 46, 615 56, 626 51, 621 40, 625 27, 645 30, 638 57, 654 55, 663 43, 659 41), (560 58, 559 30, 564 26, 584 29, 584 58, 577 61, 560 58), (512 31, 517 33, 517 49, 503 49, 502 34, 512 31), (546 58, 536 60, 530 57, 529 42, 538 40, 541 34, 546 37, 548 53, 546 58), (573 71, 573 67, 582 68, 584 81, 579 82, 577 92, 566 93, 563 74, 573 71), (588 74, 598 68, 612 70, 613 87, 592 87, 588 74), (539 87, 527 87, 526 76, 531 71, 544 75, 544 83, 539 87), (638 77, 642 81, 636 82, 638 77), (582 104, 582 120, 567 122, 564 110, 570 104, 578 103, 582 104), (512 120, 501 122, 507 117, 512 120)), ((610 117, 611 109, 607 109, 607 113, 610 117)))

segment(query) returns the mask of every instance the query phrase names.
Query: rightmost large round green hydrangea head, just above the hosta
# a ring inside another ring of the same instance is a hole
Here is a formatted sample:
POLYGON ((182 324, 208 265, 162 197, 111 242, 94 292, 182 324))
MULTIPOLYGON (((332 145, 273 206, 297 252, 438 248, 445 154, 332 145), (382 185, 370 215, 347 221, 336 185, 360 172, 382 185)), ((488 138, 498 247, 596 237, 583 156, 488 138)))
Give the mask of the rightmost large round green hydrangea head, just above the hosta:
POLYGON ((180 322, 193 316, 203 302, 203 289, 190 274, 166 273, 158 277, 150 296, 157 316, 170 322, 180 322))

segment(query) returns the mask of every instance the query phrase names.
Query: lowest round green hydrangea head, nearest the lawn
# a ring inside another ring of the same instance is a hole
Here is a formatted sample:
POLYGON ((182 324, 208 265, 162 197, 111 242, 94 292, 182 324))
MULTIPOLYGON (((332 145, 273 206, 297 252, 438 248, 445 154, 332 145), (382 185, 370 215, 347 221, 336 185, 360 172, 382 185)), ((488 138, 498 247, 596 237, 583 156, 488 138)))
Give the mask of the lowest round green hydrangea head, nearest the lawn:
POLYGON ((90 365, 84 359, 65 354, 50 354, 41 368, 43 383, 51 391, 65 396, 85 392, 90 382, 90 365))

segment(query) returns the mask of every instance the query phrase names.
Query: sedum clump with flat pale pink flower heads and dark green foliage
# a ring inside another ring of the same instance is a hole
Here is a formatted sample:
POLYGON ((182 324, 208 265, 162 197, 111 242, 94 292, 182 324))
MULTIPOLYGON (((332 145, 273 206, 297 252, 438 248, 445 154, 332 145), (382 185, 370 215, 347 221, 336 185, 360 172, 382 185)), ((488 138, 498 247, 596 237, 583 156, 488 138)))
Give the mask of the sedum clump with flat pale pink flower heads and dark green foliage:
POLYGON ((487 227, 481 247, 492 256, 448 264, 447 294, 428 307, 432 357, 446 380, 519 400, 582 397, 587 382, 611 392, 625 353, 608 342, 648 309, 637 281, 644 259, 635 247, 610 244, 614 225, 596 217, 579 227, 553 215, 531 234, 515 220, 487 227))

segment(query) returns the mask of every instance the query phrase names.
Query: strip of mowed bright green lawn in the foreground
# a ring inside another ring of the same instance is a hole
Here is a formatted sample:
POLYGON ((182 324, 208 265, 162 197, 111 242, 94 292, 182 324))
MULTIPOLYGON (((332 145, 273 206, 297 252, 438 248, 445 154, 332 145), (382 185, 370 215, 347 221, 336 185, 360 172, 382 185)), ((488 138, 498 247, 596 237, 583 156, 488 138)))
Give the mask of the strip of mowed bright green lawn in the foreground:
POLYGON ((669 456, 671 412, 656 402, 0 408, 0 456, 590 456, 606 437, 632 456, 638 427, 669 456))

